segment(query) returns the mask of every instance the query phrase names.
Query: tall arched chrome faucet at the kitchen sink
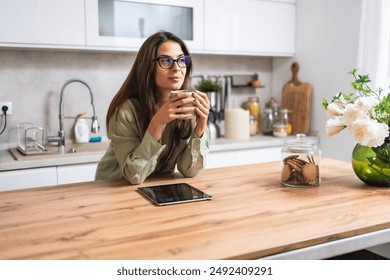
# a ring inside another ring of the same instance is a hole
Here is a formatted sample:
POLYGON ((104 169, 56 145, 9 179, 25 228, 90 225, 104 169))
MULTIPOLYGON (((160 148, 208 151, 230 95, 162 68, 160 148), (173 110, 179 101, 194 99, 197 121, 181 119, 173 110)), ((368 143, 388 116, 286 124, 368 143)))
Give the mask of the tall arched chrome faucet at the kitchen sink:
POLYGON ((77 80, 77 79, 72 79, 72 80, 69 80, 67 81, 63 86, 62 86, 62 89, 61 89, 61 96, 60 96, 60 113, 58 115, 59 117, 59 120, 60 120, 60 130, 58 131, 58 135, 57 136, 48 136, 47 137, 47 141, 50 143, 50 142, 58 142, 60 148, 64 148, 65 147, 65 131, 64 131, 64 91, 65 91, 65 88, 71 84, 71 83, 81 83, 83 85, 85 85, 88 90, 89 90, 89 93, 91 95, 91 105, 92 105, 92 112, 93 112, 93 115, 92 115, 92 126, 91 126, 91 132, 92 133, 97 133, 99 131, 99 123, 97 121, 97 116, 96 116, 96 111, 95 111, 95 103, 94 103, 94 100, 93 100, 93 94, 92 94, 92 91, 91 91, 91 88, 87 85, 86 82, 84 81, 81 81, 81 80, 77 80))

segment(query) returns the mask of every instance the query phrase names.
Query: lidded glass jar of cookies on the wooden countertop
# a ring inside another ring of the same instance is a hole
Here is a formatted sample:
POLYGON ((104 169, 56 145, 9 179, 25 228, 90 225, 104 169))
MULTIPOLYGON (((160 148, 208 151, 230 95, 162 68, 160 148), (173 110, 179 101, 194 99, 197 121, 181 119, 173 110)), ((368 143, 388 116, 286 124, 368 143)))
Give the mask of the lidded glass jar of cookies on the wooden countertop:
POLYGON ((319 186, 321 151, 317 139, 297 134, 282 149, 282 184, 288 187, 319 186))

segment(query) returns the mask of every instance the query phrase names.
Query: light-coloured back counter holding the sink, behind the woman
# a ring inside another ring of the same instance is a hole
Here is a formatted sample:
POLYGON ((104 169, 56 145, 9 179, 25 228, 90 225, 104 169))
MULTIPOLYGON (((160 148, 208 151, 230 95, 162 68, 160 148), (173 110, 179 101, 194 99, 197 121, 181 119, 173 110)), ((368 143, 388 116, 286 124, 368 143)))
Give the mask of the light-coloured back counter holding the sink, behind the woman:
MULTIPOLYGON (((218 138, 210 141, 210 149, 212 153, 262 147, 282 147, 286 139, 288 138, 276 138, 263 135, 251 137, 249 140, 218 138)), ((82 151, 73 154, 51 153, 30 156, 22 156, 19 154, 15 157, 9 149, 0 150, 0 171, 99 162, 108 147, 108 143, 109 142, 78 144, 76 147, 79 147, 82 151), (87 151, 83 150, 83 146, 88 146, 87 151)), ((75 145, 72 145, 72 147, 73 146, 75 145)), ((68 148, 65 149, 65 151, 67 150, 68 148)), ((16 151, 16 153, 19 152, 16 151)))

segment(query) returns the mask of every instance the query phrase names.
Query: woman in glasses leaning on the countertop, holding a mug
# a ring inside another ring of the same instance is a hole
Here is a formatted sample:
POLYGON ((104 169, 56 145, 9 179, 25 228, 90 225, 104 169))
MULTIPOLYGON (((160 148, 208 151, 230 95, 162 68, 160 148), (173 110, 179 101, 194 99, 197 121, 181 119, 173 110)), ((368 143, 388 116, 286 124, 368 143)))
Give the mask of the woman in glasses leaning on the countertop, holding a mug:
POLYGON ((176 166, 185 177, 204 168, 209 151, 207 95, 195 91, 171 96, 172 90, 188 88, 191 70, 189 52, 174 34, 158 32, 144 42, 108 109, 111 143, 96 180, 125 178, 141 184, 151 174, 174 172, 176 166))

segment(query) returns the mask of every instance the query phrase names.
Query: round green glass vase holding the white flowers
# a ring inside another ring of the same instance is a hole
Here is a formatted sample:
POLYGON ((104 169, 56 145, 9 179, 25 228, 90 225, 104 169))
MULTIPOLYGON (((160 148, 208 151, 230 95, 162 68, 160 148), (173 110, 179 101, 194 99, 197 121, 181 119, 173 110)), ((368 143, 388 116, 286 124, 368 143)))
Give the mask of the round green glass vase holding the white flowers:
POLYGON ((390 138, 375 148, 357 144, 352 151, 352 167, 367 185, 390 187, 390 138))

